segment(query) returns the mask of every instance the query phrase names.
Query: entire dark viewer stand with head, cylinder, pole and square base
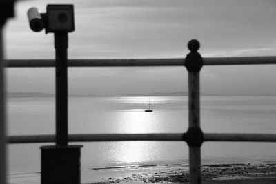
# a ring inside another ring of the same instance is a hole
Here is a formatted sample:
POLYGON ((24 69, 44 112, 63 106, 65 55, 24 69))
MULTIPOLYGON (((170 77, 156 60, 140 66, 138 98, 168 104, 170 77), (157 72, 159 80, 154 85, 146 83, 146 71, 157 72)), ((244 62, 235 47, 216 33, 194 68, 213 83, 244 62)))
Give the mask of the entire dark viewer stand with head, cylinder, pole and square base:
POLYGON ((75 30, 72 5, 28 10, 30 28, 54 33, 56 58, 56 145, 41 147, 41 184, 79 184, 81 145, 68 145, 68 32, 75 30))

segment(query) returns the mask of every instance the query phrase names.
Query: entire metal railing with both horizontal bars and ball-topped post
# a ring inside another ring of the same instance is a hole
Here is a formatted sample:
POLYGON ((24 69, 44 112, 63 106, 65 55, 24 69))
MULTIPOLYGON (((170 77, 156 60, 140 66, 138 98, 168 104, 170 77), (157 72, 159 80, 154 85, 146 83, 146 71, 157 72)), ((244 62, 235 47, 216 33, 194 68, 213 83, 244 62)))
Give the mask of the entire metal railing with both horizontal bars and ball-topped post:
MULTIPOLYGON (((186 141, 189 146, 190 183, 201 183, 201 144, 205 141, 276 142, 276 134, 214 134, 204 133, 200 127, 199 73, 203 65, 264 65, 276 64, 276 57, 201 58, 199 42, 188 43, 191 51, 186 59, 69 59, 69 67, 139 67, 186 66, 188 70, 187 132, 175 134, 70 134, 70 142, 86 141, 186 141)), ((55 60, 6 60, 8 67, 55 67, 55 60)), ((7 143, 55 142, 55 135, 8 136, 7 143)))

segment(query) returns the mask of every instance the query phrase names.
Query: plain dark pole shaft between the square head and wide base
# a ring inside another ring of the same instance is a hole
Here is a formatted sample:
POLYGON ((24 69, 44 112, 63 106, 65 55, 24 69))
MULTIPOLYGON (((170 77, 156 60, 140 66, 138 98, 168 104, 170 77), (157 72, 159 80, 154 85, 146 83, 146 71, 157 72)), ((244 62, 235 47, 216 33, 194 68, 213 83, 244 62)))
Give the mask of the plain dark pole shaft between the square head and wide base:
POLYGON ((55 32, 56 49, 56 145, 68 145, 68 32, 55 32))

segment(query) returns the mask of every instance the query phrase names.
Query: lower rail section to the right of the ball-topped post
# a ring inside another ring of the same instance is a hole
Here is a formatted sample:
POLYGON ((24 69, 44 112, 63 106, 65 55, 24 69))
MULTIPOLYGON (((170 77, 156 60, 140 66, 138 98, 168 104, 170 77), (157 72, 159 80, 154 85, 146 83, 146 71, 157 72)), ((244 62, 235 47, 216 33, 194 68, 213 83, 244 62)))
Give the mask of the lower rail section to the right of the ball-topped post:
POLYGON ((276 134, 204 134, 204 141, 276 142, 276 134))

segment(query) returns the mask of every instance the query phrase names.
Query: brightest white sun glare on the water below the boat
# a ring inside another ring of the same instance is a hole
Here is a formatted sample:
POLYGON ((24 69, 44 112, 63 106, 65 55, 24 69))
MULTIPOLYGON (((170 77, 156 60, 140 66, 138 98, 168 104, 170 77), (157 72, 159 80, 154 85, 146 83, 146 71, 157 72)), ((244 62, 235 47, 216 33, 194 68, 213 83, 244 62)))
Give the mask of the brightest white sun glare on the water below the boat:
MULTIPOLYGON (((135 105, 128 110, 121 111, 119 117, 119 132, 128 134, 156 132, 158 112, 144 112, 148 98, 135 99, 135 105)), ((126 141, 117 144, 117 160, 122 163, 139 163, 150 160, 153 152, 151 143, 147 141, 126 141), (148 145, 148 146, 147 146, 148 145)))

